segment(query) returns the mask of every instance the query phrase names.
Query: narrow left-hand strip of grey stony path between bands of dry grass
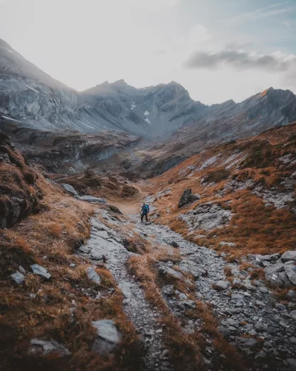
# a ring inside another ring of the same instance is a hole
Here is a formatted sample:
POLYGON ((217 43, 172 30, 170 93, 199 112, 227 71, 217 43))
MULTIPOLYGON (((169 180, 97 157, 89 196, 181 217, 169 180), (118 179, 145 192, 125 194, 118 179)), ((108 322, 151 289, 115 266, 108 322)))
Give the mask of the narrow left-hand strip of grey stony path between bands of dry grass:
POLYGON ((134 254, 122 245, 120 233, 102 223, 97 216, 105 220, 108 225, 120 225, 120 221, 107 211, 97 209, 95 217, 91 220, 90 240, 87 245, 81 246, 79 253, 93 260, 93 263, 107 260, 106 267, 125 296, 124 310, 142 337, 146 352, 144 365, 147 370, 157 370, 157 367, 164 362, 162 327, 157 321, 159 312, 157 308, 147 303, 139 283, 127 272, 127 260, 134 254))

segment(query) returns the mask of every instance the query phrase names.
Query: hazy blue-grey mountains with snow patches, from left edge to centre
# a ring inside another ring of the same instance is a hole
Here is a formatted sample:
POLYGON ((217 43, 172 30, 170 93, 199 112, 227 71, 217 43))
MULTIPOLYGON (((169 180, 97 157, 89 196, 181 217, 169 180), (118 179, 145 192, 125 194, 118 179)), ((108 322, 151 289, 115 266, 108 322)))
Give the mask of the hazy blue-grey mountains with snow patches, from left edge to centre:
POLYGON ((84 133, 115 129, 155 138, 194 122, 205 109, 175 82, 137 89, 123 80, 106 81, 78 93, 0 40, 0 117, 21 126, 84 133))

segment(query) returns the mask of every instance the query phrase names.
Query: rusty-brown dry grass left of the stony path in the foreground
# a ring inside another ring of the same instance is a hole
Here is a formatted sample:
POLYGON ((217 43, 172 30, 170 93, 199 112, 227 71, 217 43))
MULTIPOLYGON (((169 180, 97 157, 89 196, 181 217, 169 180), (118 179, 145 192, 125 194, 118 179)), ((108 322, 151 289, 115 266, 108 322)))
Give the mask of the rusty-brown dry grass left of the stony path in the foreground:
POLYGON ((0 247, 0 357, 4 370, 138 370, 141 350, 134 327, 122 310, 122 295, 112 275, 96 268, 100 286, 88 280, 89 263, 73 255, 89 237, 93 207, 74 200, 42 177, 37 185, 44 193, 43 211, 31 215, 10 230, 1 230, 0 247), (51 280, 33 275, 38 263, 51 280), (70 263, 75 267, 70 268, 70 263), (21 265, 22 285, 9 278, 21 265), (115 290, 111 293, 110 288, 115 290), (97 291, 105 298, 96 299, 97 291), (111 318, 123 335, 113 355, 92 351, 96 334, 92 320, 111 318), (71 356, 28 357, 31 338, 56 340, 71 356))

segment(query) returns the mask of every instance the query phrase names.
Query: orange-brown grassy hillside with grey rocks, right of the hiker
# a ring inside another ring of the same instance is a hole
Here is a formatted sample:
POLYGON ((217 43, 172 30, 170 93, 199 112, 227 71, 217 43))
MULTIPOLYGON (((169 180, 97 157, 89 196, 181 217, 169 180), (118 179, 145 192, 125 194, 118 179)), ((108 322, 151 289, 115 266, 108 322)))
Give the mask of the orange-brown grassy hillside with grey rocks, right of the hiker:
POLYGON ((152 179, 163 193, 157 198, 157 220, 235 258, 294 250, 295 139, 296 123, 269 129, 256 137, 206 148, 152 179), (179 208, 186 188, 199 197, 179 208), (213 215, 203 210, 212 204, 217 208, 213 215), (205 212, 203 218, 199 210, 205 212), (224 240, 235 248, 221 244, 224 240))

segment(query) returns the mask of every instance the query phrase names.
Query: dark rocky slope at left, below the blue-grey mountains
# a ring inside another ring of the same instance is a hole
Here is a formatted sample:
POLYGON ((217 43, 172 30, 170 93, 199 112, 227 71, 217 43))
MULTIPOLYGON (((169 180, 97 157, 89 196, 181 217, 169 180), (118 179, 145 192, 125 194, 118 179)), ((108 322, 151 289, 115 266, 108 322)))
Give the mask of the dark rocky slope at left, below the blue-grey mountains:
POLYGON ((101 166, 122 150, 132 148, 139 138, 125 131, 97 134, 73 131, 41 131, 20 128, 0 118, 1 130, 10 136, 29 163, 37 163, 51 173, 77 173, 101 166))

